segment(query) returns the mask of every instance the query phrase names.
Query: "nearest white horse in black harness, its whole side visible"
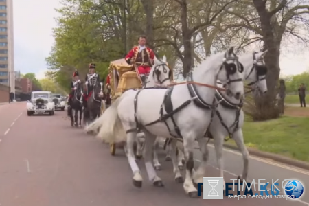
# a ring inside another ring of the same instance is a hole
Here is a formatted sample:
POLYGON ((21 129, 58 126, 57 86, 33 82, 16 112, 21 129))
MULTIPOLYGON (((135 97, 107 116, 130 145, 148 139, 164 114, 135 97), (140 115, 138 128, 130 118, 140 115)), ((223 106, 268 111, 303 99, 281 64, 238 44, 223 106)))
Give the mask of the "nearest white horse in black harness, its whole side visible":
POLYGON ((227 52, 210 56, 198 67, 201 69, 195 69, 189 74, 187 84, 170 89, 126 91, 102 115, 106 119, 106 124, 100 130, 104 141, 126 141, 135 187, 142 185, 141 172, 133 151, 140 128, 145 134, 144 159, 148 178, 157 187, 162 187, 163 183, 152 165, 152 149, 156 137, 183 137, 186 161, 183 187, 190 197, 198 197, 192 182, 193 146, 194 139, 203 137, 210 124, 216 93, 214 85, 220 80, 227 89, 227 95, 233 95, 236 99, 242 98, 244 94, 242 68, 233 47, 227 52))

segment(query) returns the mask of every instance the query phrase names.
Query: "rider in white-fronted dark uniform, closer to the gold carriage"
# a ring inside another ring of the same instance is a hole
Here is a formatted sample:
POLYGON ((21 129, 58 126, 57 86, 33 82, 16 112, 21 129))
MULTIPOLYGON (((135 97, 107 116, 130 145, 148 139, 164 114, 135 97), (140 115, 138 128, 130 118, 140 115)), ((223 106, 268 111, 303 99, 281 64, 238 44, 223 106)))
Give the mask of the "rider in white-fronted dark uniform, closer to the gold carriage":
POLYGON ((95 71, 95 64, 90 63, 89 64, 89 73, 87 73, 85 78, 86 87, 84 89, 84 100, 82 101, 84 108, 87 107, 87 100, 91 96, 91 93, 93 92, 93 89, 97 82, 100 82, 100 76, 95 71))

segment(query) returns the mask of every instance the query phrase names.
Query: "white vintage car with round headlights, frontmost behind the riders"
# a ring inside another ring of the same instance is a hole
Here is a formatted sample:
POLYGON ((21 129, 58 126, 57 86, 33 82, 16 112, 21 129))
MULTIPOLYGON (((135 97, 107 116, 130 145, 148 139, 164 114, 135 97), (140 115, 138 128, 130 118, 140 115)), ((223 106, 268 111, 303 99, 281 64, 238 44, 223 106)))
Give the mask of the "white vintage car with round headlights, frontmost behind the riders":
POLYGON ((27 115, 45 114, 54 115, 55 103, 53 102, 52 92, 32 91, 31 100, 27 102, 27 115))

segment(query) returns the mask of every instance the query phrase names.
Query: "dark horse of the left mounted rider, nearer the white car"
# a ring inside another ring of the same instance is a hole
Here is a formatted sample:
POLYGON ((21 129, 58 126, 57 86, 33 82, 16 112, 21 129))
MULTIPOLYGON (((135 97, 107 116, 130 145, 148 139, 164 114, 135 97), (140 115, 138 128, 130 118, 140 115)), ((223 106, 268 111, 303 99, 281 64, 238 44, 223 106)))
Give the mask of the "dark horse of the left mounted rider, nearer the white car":
POLYGON ((69 116, 71 117, 71 126, 82 126, 82 84, 76 85, 76 90, 73 92, 69 116), (78 112, 80 112, 80 124, 78 124, 78 112))

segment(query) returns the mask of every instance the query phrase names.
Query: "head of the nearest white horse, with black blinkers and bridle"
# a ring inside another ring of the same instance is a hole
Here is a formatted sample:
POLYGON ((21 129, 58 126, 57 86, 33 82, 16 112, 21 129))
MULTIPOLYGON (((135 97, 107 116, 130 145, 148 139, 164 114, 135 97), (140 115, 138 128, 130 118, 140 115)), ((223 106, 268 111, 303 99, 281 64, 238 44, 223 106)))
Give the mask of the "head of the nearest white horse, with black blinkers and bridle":
POLYGON ((224 56, 218 73, 218 80, 222 82, 228 96, 233 96, 236 100, 240 100, 242 95, 244 95, 244 83, 242 82, 244 69, 238 61, 238 56, 234 53, 234 47, 220 54, 224 56))

